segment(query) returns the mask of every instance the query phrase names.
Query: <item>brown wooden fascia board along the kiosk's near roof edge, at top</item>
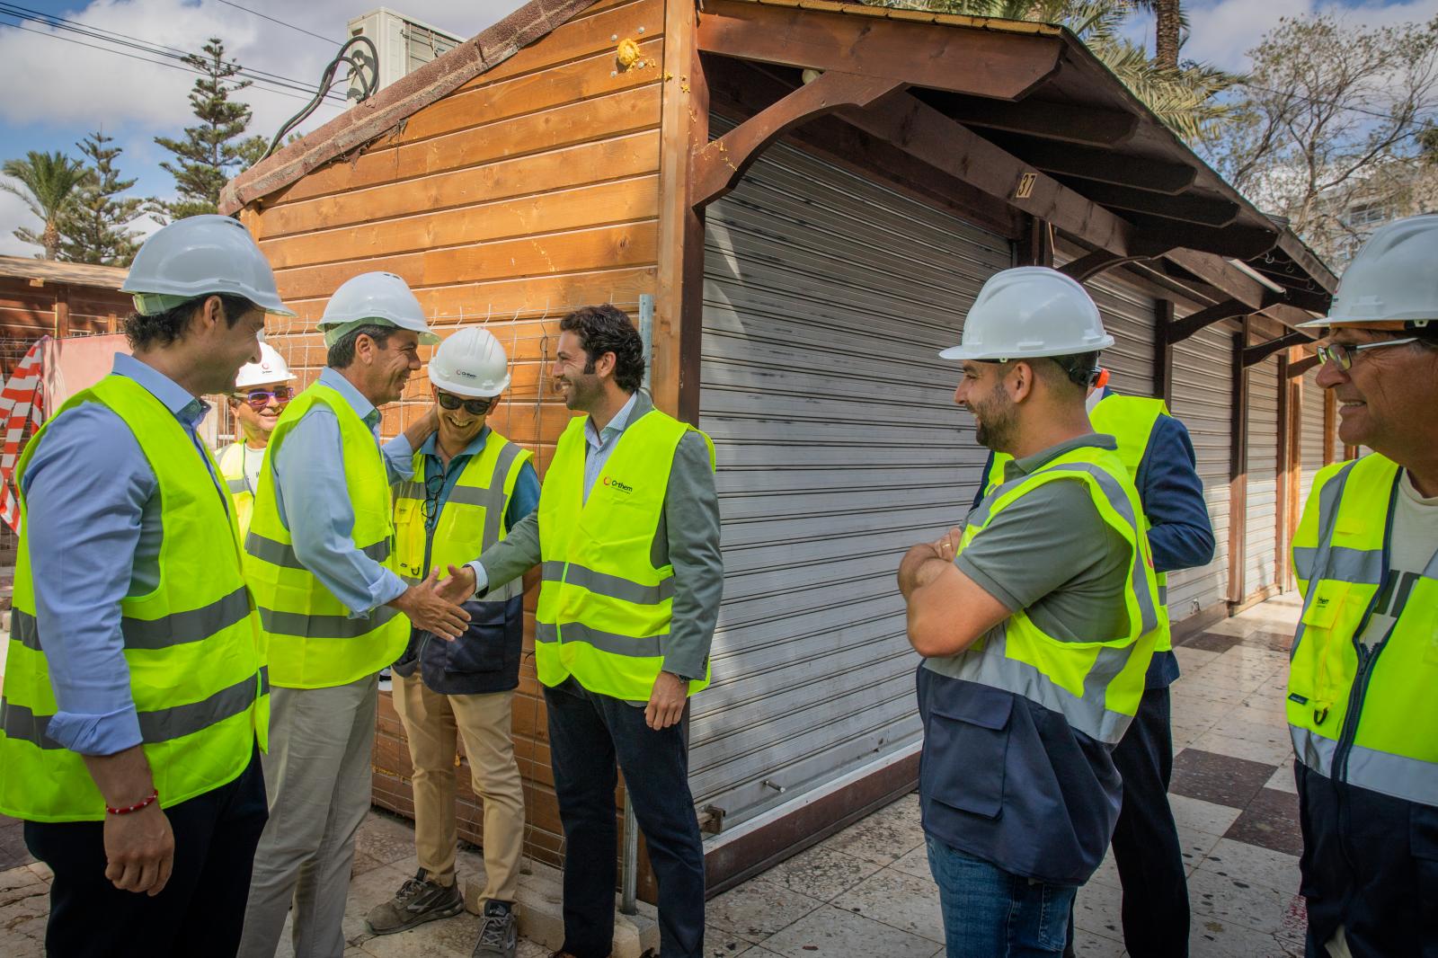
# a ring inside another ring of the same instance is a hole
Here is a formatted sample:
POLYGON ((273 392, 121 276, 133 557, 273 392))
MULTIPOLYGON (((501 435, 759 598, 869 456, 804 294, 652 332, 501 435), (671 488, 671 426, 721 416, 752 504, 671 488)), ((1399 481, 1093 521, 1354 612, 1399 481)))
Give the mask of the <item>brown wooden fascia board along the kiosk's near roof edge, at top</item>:
POLYGON ((955 30, 938 23, 709 0, 699 17, 699 49, 1012 101, 1058 70, 1064 40, 1057 33, 955 30))

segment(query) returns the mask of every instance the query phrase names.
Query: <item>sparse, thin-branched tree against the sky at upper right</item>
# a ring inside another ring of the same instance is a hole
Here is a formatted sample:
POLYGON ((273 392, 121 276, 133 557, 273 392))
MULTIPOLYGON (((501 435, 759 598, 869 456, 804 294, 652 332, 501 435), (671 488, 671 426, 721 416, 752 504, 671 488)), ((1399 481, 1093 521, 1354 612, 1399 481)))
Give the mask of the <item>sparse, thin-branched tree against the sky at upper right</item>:
POLYGON ((1241 193, 1333 265, 1382 219, 1426 204, 1438 17, 1389 27, 1284 19, 1248 56, 1234 121, 1204 144, 1241 193))

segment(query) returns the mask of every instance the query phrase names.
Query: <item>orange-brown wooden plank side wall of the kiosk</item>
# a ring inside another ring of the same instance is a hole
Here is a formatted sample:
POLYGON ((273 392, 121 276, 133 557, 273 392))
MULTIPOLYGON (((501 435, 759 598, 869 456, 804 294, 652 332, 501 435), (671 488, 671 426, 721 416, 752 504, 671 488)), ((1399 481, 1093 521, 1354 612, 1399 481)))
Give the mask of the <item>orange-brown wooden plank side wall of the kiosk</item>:
MULTIPOLYGON (((441 334, 485 322, 505 344, 515 381, 490 421, 533 449, 542 473, 569 419, 544 380, 558 319, 610 301, 637 321, 638 296, 656 292, 663 27, 663 0, 600 0, 358 155, 246 209, 299 312, 272 322, 269 338, 302 384, 324 365, 313 328, 334 289, 368 270, 398 273, 441 334), (620 68, 615 37, 638 42, 643 66, 620 68)), ((416 374, 406 400, 385 410, 385 433, 429 401, 429 380, 416 374)), ((526 850, 558 863, 533 593, 526 607, 531 654, 513 708, 526 850)), ((413 814, 410 758, 387 699, 380 726, 375 800, 413 814)), ((482 811, 467 771, 459 778, 460 833, 479 841, 482 811)))

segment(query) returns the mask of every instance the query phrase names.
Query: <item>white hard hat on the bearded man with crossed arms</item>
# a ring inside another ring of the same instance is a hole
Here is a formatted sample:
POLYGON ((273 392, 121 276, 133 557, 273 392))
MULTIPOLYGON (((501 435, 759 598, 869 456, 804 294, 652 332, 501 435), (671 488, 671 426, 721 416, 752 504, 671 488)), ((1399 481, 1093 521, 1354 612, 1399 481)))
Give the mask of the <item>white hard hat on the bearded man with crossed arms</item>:
POLYGON ((989 276, 963 319, 963 338, 945 360, 1032 360, 1097 352, 1113 345, 1084 288, 1047 266, 989 276))

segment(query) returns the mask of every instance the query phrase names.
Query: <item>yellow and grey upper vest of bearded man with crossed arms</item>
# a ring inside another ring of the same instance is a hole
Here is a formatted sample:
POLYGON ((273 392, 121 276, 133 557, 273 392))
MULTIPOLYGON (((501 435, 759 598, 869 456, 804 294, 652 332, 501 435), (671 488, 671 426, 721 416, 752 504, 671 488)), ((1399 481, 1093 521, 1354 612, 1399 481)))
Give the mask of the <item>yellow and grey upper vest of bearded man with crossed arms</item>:
POLYGON ((1063 642, 1018 611, 965 652, 926 659, 923 667, 1021 695, 1112 745, 1137 712, 1159 629, 1158 584, 1139 521, 1139 498, 1119 457, 1097 447, 1077 449, 998 486, 969 515, 959 551, 1022 495, 1074 478, 1084 483, 1104 522, 1130 545, 1127 631, 1094 642, 1063 642))

